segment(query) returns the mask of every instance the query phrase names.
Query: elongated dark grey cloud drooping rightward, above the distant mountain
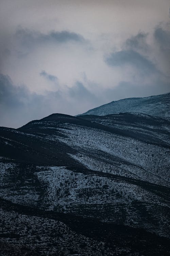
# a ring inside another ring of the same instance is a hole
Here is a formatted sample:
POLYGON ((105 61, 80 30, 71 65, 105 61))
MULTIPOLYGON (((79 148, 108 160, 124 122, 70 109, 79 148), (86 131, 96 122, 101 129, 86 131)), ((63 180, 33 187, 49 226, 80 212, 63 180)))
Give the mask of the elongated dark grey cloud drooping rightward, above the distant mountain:
POLYGON ((145 74, 156 71, 155 65, 149 59, 134 50, 122 50, 111 53, 105 61, 108 65, 113 67, 131 65, 140 70, 141 73, 145 72, 145 74))

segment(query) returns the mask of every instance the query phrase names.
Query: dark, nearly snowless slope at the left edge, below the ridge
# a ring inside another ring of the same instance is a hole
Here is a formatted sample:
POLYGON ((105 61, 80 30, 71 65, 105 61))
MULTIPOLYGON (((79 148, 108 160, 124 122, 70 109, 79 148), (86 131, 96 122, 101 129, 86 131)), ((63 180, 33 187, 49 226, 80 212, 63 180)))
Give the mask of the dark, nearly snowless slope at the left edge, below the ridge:
MULTIPOLYGON (((75 162, 66 152, 75 152, 66 144, 46 139, 45 133, 28 133, 0 127, 0 154, 21 162, 66 164, 75 162)), ((51 134, 51 130, 49 131, 51 134)), ((76 164, 77 165, 77 164, 76 164)))

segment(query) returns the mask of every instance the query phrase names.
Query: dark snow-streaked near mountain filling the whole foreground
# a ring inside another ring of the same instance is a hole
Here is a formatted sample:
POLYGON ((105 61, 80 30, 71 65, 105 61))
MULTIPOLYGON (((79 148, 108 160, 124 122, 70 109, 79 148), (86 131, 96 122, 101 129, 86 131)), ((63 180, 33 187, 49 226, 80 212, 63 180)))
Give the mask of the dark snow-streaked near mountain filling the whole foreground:
POLYGON ((0 255, 169 255, 169 135, 138 113, 0 127, 0 255))

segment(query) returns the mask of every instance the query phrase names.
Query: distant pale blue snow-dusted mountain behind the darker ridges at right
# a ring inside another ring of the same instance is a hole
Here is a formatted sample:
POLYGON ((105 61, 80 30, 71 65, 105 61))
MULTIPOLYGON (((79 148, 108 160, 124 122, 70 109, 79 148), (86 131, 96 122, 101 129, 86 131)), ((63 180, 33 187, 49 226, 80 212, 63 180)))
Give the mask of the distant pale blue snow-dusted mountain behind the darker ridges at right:
POLYGON ((121 112, 136 112, 170 120, 170 93, 146 98, 129 98, 112 101, 91 109, 81 115, 109 115, 121 112))

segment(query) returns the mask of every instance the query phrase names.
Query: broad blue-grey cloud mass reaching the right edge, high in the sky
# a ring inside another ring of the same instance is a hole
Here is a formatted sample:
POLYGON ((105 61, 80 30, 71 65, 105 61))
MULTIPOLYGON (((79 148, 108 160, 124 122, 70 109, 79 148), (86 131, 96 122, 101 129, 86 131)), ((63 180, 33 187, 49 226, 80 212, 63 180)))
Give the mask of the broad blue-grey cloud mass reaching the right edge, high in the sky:
POLYGON ((105 62, 109 66, 122 69, 125 65, 131 66, 134 72, 138 71, 137 74, 142 75, 143 78, 155 75, 159 81, 164 78, 170 81, 166 74, 168 70, 166 65, 170 67, 169 25, 167 23, 157 26, 153 34, 138 32, 131 36, 122 44, 122 50, 111 53, 105 58, 105 62), (153 41, 151 41, 151 35, 153 35, 153 41), (155 47, 155 43, 159 50, 155 47))

